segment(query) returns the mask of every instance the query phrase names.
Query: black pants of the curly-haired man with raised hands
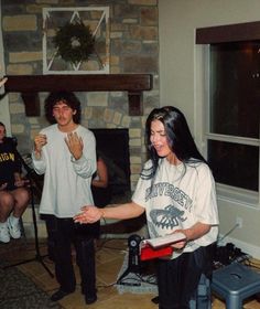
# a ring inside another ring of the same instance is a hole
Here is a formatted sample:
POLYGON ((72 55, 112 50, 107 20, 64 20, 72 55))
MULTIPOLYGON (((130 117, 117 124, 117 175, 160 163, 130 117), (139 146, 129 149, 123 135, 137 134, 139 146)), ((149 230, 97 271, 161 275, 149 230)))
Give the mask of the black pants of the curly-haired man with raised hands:
MULTIPOLYGON (((48 234, 48 253, 55 263, 55 275, 61 289, 72 292, 76 288, 72 259, 72 244, 76 251, 76 263, 82 277, 82 291, 91 298, 96 296, 95 246, 97 226, 74 223, 73 219, 44 215, 48 234)), ((99 223, 98 223, 99 224, 99 223)))

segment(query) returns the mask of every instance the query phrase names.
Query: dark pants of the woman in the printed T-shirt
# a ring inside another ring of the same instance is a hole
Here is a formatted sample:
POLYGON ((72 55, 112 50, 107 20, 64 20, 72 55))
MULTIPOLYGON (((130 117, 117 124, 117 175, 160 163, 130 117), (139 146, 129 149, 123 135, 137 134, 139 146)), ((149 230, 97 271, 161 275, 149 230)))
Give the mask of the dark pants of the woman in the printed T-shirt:
POLYGON ((214 246, 199 247, 171 260, 158 260, 160 309, 188 309, 202 274, 212 276, 214 246))

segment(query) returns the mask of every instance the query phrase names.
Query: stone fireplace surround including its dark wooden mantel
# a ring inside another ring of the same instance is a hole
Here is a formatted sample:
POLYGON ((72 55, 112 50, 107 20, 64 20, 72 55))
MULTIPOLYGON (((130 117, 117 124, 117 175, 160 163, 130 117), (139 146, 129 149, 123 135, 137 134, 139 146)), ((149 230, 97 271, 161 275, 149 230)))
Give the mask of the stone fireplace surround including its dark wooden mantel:
MULTIPOLYGON (((1 8, 7 87, 10 86, 6 90, 11 132, 18 139, 20 153, 31 152, 35 134, 48 125, 43 110, 46 94, 54 90, 53 87, 65 85, 65 89, 75 92, 82 102, 83 126, 128 131, 129 187, 134 190, 147 159, 144 121, 151 109, 160 105, 158 0, 32 0, 22 6, 14 2, 4 0, 1 8), (42 8, 98 7, 105 2, 110 10, 109 74, 83 74, 82 77, 64 74, 63 77, 55 75, 54 82, 45 81, 48 76, 42 75, 42 8), (152 79, 149 87, 140 86, 143 74, 152 79), (131 76, 123 79, 121 75, 131 76), (39 81, 36 86, 32 84, 34 78, 39 81), (126 82, 128 78, 130 84, 126 82)), ((31 224, 30 209, 23 221, 25 227, 31 224)), ((40 223, 41 236, 45 234, 45 226, 40 223)))

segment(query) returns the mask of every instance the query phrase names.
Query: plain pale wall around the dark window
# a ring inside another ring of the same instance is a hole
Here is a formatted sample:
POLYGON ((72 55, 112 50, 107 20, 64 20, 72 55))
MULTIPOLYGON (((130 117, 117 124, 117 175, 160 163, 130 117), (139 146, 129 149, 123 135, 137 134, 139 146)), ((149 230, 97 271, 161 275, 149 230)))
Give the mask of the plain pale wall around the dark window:
MULTIPOLYGON (((159 0, 161 106, 183 110, 201 149, 202 94, 197 89, 203 58, 202 46, 195 45, 196 28, 250 21, 260 21, 259 0, 159 0)), ((242 228, 227 241, 260 258, 260 210, 223 200, 218 206, 220 233, 226 234, 236 216, 241 216, 242 228)))

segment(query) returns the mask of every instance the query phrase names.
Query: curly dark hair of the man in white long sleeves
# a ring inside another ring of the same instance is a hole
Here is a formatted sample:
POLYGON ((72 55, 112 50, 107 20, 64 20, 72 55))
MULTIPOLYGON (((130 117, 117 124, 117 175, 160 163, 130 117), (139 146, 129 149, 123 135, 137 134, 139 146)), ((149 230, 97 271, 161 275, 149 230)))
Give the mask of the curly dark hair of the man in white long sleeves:
POLYGON ((67 106, 69 106, 73 110, 76 110, 76 114, 73 115, 73 120, 75 124, 80 122, 82 117, 82 107, 80 102, 76 97, 74 93, 61 90, 55 93, 50 93, 50 95, 45 99, 45 117, 51 124, 55 124, 56 120, 53 116, 53 107, 57 102, 64 102, 67 106))

